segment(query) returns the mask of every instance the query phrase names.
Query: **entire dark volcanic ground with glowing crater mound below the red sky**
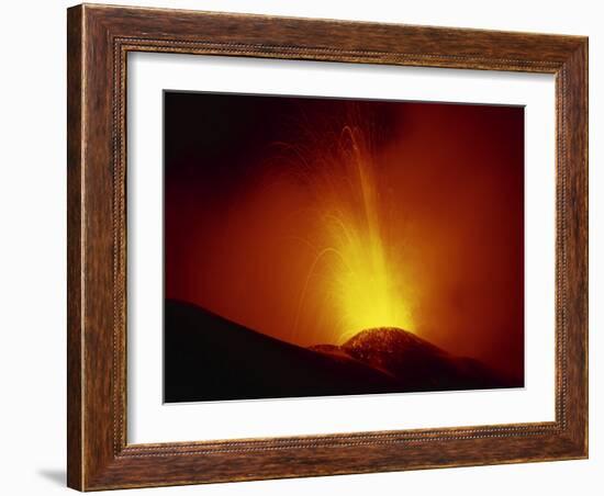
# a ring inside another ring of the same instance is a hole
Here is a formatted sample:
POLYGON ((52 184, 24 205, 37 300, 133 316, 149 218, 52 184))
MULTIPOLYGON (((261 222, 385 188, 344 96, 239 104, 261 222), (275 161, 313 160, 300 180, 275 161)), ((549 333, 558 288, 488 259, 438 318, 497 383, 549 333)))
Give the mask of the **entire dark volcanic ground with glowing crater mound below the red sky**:
POLYGON ((402 329, 302 348, 167 300, 167 403, 522 386, 402 329))

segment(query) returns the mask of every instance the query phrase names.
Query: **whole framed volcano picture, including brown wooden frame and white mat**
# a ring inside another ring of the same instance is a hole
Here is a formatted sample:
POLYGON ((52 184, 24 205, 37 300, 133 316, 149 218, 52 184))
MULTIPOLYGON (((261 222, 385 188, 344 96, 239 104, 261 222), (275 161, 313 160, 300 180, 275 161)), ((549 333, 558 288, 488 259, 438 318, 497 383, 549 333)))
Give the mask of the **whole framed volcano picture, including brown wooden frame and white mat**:
POLYGON ((588 456, 588 40, 68 10, 68 485, 588 456))

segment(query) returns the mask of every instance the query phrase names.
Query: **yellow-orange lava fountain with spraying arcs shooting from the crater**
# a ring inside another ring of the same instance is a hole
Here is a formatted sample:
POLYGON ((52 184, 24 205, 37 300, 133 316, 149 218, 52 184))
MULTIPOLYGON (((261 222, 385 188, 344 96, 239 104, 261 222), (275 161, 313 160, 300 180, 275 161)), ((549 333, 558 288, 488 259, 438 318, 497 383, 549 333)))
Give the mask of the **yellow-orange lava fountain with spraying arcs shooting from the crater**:
MULTIPOLYGON (((342 343, 363 329, 414 329, 410 281, 389 215, 392 191, 380 177, 380 164, 367 126, 346 125, 333 145, 302 160, 297 170, 312 192, 320 223, 316 239, 302 241, 315 251, 300 292, 294 334, 299 332, 311 286, 337 318, 331 334, 342 343), (317 244, 317 240, 321 240, 317 244)), ((317 296, 317 295, 315 295, 317 296)))

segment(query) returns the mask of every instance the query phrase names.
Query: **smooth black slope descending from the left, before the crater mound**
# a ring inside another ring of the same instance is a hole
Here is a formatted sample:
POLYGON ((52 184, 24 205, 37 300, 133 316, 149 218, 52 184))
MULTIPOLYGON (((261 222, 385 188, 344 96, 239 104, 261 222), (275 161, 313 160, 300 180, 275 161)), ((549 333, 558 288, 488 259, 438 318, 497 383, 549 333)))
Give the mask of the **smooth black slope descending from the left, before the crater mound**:
POLYGON ((255 332, 195 305, 166 301, 164 399, 195 402, 384 393, 389 374, 255 332))

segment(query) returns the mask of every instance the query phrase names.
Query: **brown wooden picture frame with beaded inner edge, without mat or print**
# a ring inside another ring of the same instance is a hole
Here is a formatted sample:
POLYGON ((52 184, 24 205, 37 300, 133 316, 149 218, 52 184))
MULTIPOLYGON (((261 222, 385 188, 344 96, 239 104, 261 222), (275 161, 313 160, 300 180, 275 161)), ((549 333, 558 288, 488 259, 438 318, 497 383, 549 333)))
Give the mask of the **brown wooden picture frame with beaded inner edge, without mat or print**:
POLYGON ((69 487, 96 491, 588 456, 586 37, 92 4, 68 10, 67 36, 69 487), (555 75, 556 420, 128 444, 128 52, 555 75))

